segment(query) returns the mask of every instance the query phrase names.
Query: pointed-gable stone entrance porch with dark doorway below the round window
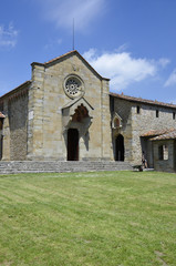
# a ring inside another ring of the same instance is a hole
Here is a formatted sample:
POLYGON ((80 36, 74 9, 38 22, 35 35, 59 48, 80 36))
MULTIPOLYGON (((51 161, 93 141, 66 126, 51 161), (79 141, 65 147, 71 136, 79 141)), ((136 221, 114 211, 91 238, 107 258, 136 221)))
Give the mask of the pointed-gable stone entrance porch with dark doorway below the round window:
POLYGON ((66 160, 80 161, 89 147, 89 127, 92 124, 93 108, 83 98, 70 102, 62 109, 63 136, 66 145, 66 160), (80 145, 81 144, 81 145, 80 145))

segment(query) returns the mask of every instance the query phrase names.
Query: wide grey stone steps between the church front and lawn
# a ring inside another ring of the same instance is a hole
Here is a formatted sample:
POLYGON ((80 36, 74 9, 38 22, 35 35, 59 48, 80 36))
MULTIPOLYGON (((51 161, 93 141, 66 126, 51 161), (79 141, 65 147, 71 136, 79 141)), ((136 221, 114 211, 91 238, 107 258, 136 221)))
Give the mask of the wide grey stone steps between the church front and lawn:
POLYGON ((18 173, 64 173, 64 172, 92 172, 92 171, 123 171, 132 170, 127 162, 108 161, 10 161, 0 162, 0 174, 18 173))

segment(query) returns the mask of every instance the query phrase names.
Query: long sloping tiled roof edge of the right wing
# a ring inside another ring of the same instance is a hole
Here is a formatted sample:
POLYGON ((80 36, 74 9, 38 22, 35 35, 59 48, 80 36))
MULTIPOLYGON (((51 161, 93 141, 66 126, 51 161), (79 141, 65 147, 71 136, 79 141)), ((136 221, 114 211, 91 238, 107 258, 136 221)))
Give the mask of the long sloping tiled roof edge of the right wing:
POLYGON ((142 98, 134 98, 134 96, 128 96, 128 95, 117 94, 117 93, 112 93, 112 92, 110 93, 110 95, 114 96, 114 98, 122 99, 122 100, 126 100, 126 101, 130 101, 130 102, 147 103, 147 104, 152 104, 152 105, 176 109, 176 104, 173 104, 173 103, 164 103, 164 102, 158 102, 156 100, 152 101, 152 100, 146 100, 146 99, 142 99, 142 98))

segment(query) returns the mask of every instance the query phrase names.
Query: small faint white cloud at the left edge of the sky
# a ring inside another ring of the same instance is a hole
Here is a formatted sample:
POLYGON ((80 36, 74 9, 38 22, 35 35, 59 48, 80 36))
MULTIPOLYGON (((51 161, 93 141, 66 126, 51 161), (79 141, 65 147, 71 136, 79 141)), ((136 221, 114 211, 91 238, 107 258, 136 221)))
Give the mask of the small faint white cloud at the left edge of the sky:
POLYGON ((0 25, 0 47, 13 48, 17 44, 18 31, 14 30, 13 24, 10 23, 6 29, 0 25))

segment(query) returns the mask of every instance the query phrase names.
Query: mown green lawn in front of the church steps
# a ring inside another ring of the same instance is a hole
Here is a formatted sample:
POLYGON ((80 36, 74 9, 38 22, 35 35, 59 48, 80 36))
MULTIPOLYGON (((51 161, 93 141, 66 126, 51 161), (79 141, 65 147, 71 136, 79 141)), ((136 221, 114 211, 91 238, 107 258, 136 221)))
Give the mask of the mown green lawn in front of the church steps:
POLYGON ((0 266, 175 266, 176 175, 0 176, 0 266))

